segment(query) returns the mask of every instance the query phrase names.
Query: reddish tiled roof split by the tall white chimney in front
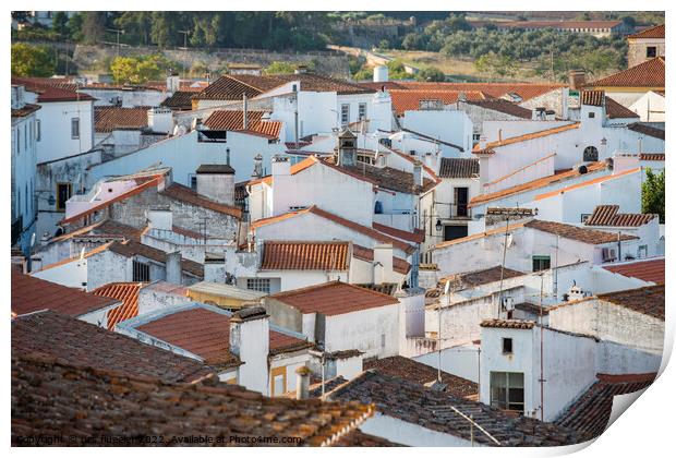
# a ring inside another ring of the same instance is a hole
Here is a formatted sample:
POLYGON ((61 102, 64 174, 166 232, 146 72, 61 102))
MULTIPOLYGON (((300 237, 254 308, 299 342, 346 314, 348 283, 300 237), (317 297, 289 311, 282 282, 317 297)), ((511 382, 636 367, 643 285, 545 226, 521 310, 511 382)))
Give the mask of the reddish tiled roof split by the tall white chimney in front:
MULTIPOLYGON (((230 352, 230 316, 196 308, 161 316, 136 327, 137 330, 204 358, 219 369, 240 364, 230 352)), ((311 345, 293 336, 269 332, 269 351, 309 348, 311 345)))

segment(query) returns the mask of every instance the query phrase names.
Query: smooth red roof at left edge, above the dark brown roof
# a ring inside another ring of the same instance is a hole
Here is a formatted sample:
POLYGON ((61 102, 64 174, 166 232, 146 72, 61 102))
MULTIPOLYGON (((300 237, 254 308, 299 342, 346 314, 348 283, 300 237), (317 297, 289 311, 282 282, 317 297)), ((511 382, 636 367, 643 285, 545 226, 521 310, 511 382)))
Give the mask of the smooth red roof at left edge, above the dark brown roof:
POLYGON ((31 277, 15 270, 12 270, 11 301, 12 313, 17 315, 39 310, 53 310, 71 316, 84 315, 120 302, 31 277))

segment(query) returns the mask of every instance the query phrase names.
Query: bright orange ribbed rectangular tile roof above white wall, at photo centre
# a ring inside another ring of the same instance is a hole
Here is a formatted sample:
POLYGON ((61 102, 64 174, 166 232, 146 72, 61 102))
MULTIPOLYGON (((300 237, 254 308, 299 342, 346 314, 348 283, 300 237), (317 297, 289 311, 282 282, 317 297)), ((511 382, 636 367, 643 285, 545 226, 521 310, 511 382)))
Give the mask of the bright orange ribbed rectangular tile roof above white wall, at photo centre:
POLYGON ((262 270, 347 270, 349 242, 292 242, 266 240, 262 270))

